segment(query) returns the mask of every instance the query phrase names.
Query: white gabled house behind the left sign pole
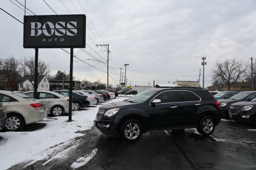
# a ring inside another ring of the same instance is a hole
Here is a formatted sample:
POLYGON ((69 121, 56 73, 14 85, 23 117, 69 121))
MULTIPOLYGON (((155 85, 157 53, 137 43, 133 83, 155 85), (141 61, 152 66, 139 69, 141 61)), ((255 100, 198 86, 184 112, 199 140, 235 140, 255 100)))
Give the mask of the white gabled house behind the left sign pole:
MULTIPOLYGON (((34 75, 25 75, 20 83, 19 83, 19 90, 25 91, 25 90, 34 90, 34 75)), ((37 77, 37 90, 49 90, 50 84, 48 79, 45 75, 38 75, 37 77)))

